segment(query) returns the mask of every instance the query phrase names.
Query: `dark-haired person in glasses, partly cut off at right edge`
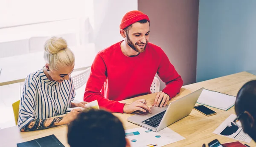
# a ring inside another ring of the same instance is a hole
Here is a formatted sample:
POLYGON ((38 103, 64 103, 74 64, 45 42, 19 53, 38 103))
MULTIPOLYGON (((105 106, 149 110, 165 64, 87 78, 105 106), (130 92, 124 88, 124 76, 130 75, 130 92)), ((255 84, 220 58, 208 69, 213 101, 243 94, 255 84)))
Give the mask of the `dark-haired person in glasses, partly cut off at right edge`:
POLYGON ((256 80, 247 82, 239 90, 236 96, 235 110, 237 118, 234 120, 237 126, 243 127, 256 141, 256 80))

